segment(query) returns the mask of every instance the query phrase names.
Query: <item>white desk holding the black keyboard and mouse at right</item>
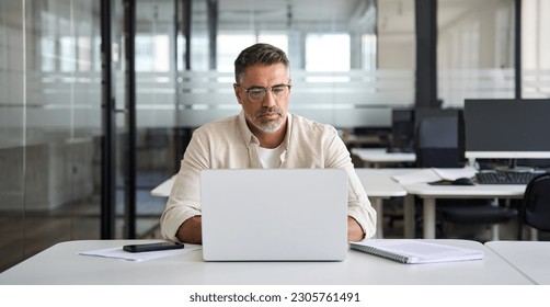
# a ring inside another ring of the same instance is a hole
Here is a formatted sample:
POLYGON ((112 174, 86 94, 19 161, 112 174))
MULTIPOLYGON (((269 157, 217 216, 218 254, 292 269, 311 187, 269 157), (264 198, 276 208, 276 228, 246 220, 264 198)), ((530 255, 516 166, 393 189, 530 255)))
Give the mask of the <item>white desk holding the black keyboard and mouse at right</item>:
POLYGON ((437 198, 520 198, 523 184, 431 185, 404 184, 409 195, 423 198, 424 239, 435 238, 435 200, 437 198))

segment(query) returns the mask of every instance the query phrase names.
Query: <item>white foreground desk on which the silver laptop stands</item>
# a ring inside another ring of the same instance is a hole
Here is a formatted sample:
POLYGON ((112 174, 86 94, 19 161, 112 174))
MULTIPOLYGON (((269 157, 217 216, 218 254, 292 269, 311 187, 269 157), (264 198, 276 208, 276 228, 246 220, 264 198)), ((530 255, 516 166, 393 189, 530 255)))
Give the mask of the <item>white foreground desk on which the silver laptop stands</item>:
POLYGON ((0 273, 0 284, 177 285, 409 285, 532 284, 491 249, 475 241, 437 240, 479 249, 483 260, 401 264, 358 251, 342 262, 204 262, 202 251, 130 262, 77 252, 140 240, 68 241, 0 273))

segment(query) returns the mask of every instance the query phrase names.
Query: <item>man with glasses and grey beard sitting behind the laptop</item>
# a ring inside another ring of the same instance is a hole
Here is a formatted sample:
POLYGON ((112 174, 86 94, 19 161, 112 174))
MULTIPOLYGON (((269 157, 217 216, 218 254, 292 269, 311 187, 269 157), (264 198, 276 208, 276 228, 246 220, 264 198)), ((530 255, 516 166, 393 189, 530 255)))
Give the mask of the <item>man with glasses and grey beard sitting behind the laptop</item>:
POLYGON ((347 238, 357 241, 374 235, 376 212, 336 129, 287 113, 289 71, 288 58, 279 48, 255 44, 241 52, 234 61, 233 90, 242 111, 194 132, 161 216, 165 239, 202 243, 200 170, 245 168, 345 169, 347 238))

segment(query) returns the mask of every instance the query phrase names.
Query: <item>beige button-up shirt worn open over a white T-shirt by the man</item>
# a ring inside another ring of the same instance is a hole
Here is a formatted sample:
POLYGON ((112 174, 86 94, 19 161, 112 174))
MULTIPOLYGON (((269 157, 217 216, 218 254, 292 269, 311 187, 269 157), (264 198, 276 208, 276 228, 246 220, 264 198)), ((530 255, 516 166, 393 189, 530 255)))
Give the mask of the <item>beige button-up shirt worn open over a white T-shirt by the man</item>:
MULTIPOLYGON (((183 156, 167 207, 161 216, 165 239, 177 241, 175 234, 187 218, 200 215, 199 173, 204 169, 261 168, 257 138, 250 132, 244 113, 205 124, 193 133, 183 156)), ((287 134, 280 155, 280 168, 340 168, 348 174, 348 215, 370 238, 376 229, 376 212, 355 173, 350 152, 330 125, 288 114, 287 134)))

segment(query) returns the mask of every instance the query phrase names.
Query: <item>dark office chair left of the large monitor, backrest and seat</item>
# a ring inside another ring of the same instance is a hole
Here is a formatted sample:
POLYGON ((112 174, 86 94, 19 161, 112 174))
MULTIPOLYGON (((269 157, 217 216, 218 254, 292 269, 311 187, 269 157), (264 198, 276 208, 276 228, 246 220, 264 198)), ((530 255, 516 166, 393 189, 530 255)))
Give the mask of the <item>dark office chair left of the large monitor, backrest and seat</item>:
MULTIPOLYGON (((416 161, 420 168, 461 168, 460 114, 423 118, 416 127, 416 161)), ((493 239, 497 225, 514 219, 517 211, 499 205, 494 200, 438 200, 439 231, 447 236, 447 224, 492 225, 493 239)))

